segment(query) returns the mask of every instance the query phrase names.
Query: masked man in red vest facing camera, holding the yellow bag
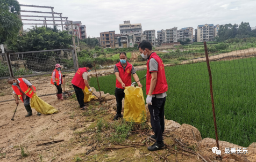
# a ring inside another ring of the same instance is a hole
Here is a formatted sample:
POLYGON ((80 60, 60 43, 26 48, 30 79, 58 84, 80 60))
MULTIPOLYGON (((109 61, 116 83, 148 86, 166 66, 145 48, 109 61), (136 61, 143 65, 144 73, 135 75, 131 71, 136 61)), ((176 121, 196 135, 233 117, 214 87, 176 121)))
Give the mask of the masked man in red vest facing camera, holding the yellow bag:
POLYGON ((139 82, 139 77, 134 70, 134 67, 126 61, 126 53, 121 52, 119 55, 120 62, 114 66, 114 72, 116 74, 116 101, 117 101, 117 114, 113 120, 117 120, 118 118, 122 118, 122 100, 124 98, 124 88, 127 86, 131 86, 132 84, 132 76, 135 81, 138 81, 138 86, 142 87, 139 82))

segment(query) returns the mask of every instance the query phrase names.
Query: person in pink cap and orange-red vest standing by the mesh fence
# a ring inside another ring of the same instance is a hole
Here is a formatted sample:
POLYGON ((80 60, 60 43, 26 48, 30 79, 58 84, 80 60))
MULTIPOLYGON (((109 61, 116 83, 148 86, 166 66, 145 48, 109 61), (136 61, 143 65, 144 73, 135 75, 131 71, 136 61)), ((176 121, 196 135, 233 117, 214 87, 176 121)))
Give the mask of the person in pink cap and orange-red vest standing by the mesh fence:
POLYGON ((63 84, 63 82, 62 82, 62 74, 61 74, 60 70, 61 70, 60 64, 56 64, 55 65, 55 69, 54 69, 54 71, 52 73, 51 84, 54 84, 54 86, 56 86, 56 88, 58 89, 58 92, 57 92, 58 100, 59 99, 63 100, 62 88, 61 88, 61 84, 63 84))

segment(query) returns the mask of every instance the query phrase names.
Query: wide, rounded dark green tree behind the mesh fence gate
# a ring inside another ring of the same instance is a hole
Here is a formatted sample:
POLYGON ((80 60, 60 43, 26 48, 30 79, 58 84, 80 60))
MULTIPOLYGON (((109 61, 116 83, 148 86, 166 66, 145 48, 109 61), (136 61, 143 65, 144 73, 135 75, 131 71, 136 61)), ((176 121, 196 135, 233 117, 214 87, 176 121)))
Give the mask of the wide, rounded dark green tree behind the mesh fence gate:
POLYGON ((72 44, 72 36, 56 27, 33 27, 18 35, 15 40, 7 41, 6 44, 15 52, 64 49, 72 44))

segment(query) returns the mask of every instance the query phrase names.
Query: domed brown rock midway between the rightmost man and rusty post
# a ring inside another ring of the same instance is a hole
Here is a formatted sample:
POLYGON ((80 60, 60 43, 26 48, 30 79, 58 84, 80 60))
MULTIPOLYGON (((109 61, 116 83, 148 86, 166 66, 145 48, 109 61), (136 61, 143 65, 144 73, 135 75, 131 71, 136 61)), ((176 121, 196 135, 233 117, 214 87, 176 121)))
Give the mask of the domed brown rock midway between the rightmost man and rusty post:
POLYGON ((183 141, 186 141, 187 143, 193 143, 195 140, 197 142, 202 140, 199 130, 196 127, 188 124, 182 124, 181 127, 175 130, 175 133, 177 133, 177 136, 180 136, 180 138, 184 138, 183 141), (194 132, 195 138, 192 130, 194 132))

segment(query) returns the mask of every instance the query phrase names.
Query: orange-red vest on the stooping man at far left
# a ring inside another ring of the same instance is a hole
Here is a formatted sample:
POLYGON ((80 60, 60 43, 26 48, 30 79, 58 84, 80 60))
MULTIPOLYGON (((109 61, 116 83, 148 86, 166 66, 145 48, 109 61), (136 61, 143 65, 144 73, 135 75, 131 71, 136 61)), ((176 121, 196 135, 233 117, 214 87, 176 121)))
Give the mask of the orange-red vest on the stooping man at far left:
MULTIPOLYGON (((20 81, 20 82, 19 82, 19 87, 20 87, 20 89, 22 89, 22 91, 23 91, 27 96, 29 96, 30 98, 32 98, 32 96, 33 96, 33 94, 34 94, 33 90, 32 90, 29 86, 27 86, 27 84, 22 80, 22 78, 19 78, 19 79, 17 79, 17 80, 20 81)), ((22 92, 19 91, 18 87, 17 87, 17 86, 12 86, 12 88, 13 88, 13 90, 15 91, 16 95, 19 96, 20 100, 21 100, 22 102, 24 102, 24 101, 23 101, 23 98, 22 98, 22 92)), ((34 90, 35 90, 35 87, 34 87, 34 86, 33 86, 33 88, 34 88, 34 90)))

